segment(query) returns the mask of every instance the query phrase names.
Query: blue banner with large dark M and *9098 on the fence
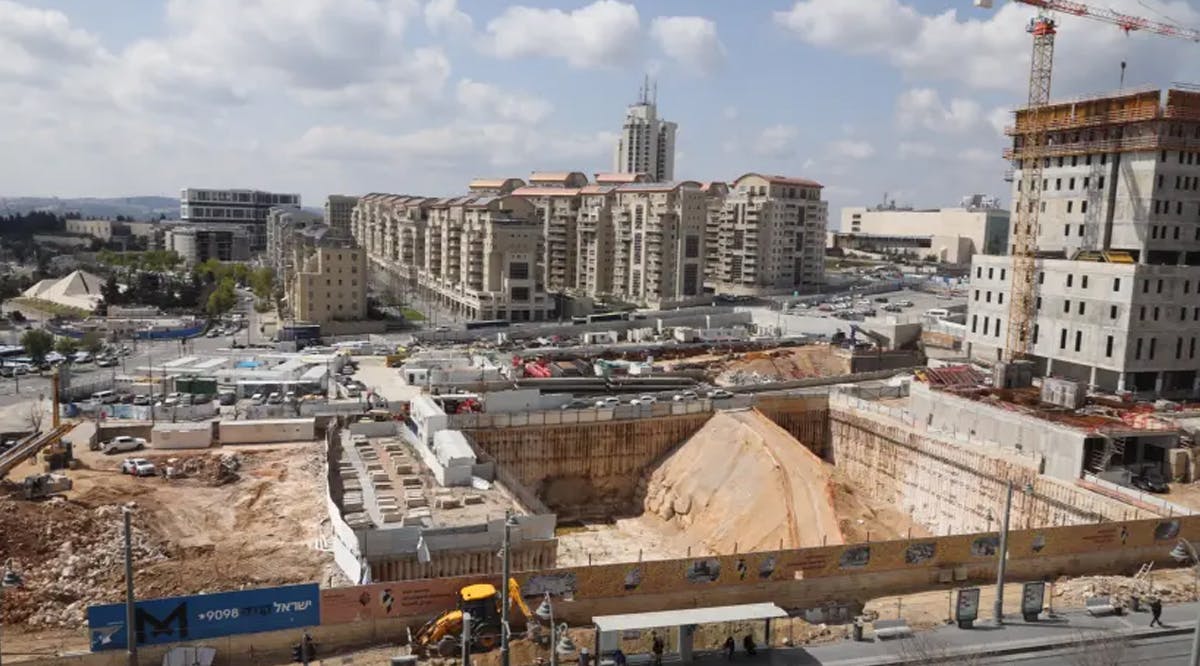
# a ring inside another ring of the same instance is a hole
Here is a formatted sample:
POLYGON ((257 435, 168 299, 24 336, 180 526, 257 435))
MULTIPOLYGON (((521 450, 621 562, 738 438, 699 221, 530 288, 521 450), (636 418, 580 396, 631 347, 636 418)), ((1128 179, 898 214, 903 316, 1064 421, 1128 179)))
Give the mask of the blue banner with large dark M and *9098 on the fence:
MULTIPOLYGON (((317 583, 138 601, 137 644, 178 643, 320 624, 317 583)), ((88 607, 92 652, 125 649, 125 605, 88 607)))

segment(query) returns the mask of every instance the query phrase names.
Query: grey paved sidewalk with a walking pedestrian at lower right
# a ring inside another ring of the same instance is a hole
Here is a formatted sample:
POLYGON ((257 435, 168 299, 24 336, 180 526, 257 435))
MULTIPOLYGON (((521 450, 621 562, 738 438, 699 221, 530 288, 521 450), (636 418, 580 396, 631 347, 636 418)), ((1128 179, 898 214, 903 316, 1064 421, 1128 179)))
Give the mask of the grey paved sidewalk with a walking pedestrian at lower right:
MULTIPOLYGON (((1166 628, 1151 628, 1148 612, 1127 612, 1123 616, 1091 617, 1084 611, 1070 611, 1056 618, 1027 623, 1010 616, 1002 626, 990 620, 977 622, 974 629, 956 625, 941 626, 916 634, 917 638, 888 641, 841 641, 824 646, 778 648, 755 658, 738 654, 733 664, 745 666, 883 666, 888 664, 935 662, 938 658, 955 655, 1003 655, 1048 650, 1094 640, 1103 636, 1151 638, 1190 634, 1195 626, 1200 604, 1176 604, 1163 608, 1166 628)), ((1045 617, 1045 616, 1043 616, 1045 617)), ((725 662, 721 656, 706 656, 708 664, 725 662)), ((950 662, 950 661, 947 661, 950 662)))

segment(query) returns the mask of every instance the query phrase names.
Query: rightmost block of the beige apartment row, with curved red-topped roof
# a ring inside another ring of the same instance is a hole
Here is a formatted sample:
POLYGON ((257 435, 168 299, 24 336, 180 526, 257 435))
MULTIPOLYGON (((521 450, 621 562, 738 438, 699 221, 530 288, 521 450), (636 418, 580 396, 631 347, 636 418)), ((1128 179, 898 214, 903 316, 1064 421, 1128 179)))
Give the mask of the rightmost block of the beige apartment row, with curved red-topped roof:
POLYGON ((719 294, 815 288, 824 281, 828 205, 821 184, 745 174, 721 206, 709 283, 719 294))

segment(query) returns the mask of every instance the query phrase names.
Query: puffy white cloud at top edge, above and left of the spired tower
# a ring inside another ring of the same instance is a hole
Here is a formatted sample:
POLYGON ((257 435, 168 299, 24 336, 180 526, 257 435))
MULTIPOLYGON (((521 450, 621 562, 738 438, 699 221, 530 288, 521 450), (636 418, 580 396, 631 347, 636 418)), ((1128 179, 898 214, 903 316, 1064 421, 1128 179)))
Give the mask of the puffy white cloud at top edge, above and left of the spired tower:
POLYGON ((559 58, 572 67, 631 62, 642 38, 637 7, 596 0, 571 12, 508 7, 487 23, 486 50, 498 58, 559 58))

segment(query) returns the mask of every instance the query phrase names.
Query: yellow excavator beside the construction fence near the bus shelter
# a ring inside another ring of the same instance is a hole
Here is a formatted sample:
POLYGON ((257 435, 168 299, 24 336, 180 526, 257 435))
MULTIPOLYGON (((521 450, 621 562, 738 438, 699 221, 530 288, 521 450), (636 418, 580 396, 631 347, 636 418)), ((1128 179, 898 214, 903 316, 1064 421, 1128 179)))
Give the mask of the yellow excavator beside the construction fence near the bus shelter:
MULTIPOLYGON (((426 658, 431 652, 438 656, 452 656, 462 649, 462 614, 470 613, 472 652, 488 652, 500 644, 500 593, 491 583, 476 583, 458 590, 458 607, 445 611, 431 619, 413 635, 409 644, 413 654, 426 658)), ((509 602, 524 616, 526 622, 533 618, 533 612, 521 598, 521 586, 515 578, 509 578, 509 602)))

